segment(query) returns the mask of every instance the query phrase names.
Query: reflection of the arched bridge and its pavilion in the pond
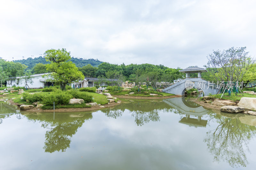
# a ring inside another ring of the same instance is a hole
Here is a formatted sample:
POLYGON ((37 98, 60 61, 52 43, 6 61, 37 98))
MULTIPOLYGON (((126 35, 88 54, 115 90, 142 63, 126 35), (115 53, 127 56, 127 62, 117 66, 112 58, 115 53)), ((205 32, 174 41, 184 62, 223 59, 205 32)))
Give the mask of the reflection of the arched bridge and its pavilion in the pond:
POLYGON ((203 106, 195 103, 196 98, 191 97, 179 97, 164 99, 163 102, 177 109, 185 117, 182 117, 179 123, 188 124, 194 127, 206 127, 207 120, 203 120, 202 116, 207 115, 209 110, 204 109, 203 106))

